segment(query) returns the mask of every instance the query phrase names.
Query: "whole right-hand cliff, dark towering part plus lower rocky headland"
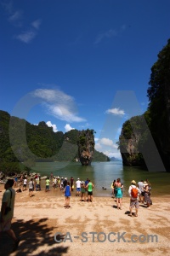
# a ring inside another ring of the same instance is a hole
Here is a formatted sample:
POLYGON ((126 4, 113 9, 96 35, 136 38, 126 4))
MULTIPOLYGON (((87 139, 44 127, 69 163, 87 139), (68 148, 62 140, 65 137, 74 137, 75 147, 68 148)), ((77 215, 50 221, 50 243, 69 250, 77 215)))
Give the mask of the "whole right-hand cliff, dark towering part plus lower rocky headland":
POLYGON ((122 125, 119 148, 123 164, 144 165, 141 152, 155 155, 150 150, 150 132, 156 143, 167 171, 170 170, 170 39, 158 54, 158 60, 151 67, 148 110, 141 116, 133 117, 122 125), (147 125, 145 125, 145 122, 147 125), (148 129, 149 128, 149 129, 148 129))

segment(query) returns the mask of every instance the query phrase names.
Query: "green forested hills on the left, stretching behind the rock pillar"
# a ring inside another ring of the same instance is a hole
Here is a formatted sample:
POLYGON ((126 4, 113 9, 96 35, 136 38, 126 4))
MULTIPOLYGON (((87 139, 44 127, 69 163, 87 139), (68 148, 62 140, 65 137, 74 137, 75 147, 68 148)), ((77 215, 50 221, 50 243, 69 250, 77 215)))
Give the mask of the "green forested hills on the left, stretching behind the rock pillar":
MULTIPOLYGON (((78 160, 78 134, 77 130, 54 132, 43 121, 31 125, 0 111, 0 171, 18 171, 20 162, 29 168, 36 161, 78 160)), ((94 161, 108 160, 105 154, 94 152, 94 161)))

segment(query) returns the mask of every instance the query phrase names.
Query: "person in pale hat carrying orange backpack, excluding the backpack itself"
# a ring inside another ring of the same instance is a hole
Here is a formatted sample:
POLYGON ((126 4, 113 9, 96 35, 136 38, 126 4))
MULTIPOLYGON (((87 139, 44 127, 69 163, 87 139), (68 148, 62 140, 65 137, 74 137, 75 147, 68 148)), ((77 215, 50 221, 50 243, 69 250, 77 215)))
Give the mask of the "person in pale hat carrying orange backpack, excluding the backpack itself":
POLYGON ((130 210, 130 213, 128 214, 128 216, 132 217, 133 216, 133 207, 135 207, 135 214, 134 216, 135 217, 138 217, 138 210, 139 210, 139 197, 137 198, 133 198, 132 195, 131 195, 131 190, 135 188, 135 189, 138 189, 138 195, 141 194, 141 191, 140 189, 136 186, 136 182, 133 180, 131 182, 131 185, 129 186, 129 189, 128 189, 128 195, 130 195, 130 207, 129 207, 129 210, 130 210))

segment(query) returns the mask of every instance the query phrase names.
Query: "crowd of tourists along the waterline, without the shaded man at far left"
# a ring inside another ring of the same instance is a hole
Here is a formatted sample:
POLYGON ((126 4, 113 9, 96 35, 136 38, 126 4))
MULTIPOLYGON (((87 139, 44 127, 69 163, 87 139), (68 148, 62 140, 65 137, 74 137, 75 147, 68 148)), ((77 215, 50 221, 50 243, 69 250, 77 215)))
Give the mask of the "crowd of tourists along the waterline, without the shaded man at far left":
MULTIPOLYGON (((92 183, 88 178, 86 181, 81 181, 78 177, 75 181, 73 177, 70 180, 67 177, 53 176, 53 173, 45 179, 45 192, 50 191, 50 186, 52 189, 59 189, 65 195, 65 208, 70 207, 70 197, 71 193, 76 190, 76 196, 80 197, 80 201, 93 201, 93 189, 94 183, 92 183)), ((16 192, 22 192, 29 190, 29 196, 33 195, 33 191, 41 190, 41 177, 36 174, 34 177, 27 180, 27 177, 23 175, 14 177, 14 188, 16 192)), ((104 187, 102 187, 105 189, 104 187)), ((112 197, 116 199, 116 209, 122 210, 122 197, 123 197, 123 183, 121 178, 117 178, 111 183, 112 197)), ((150 199, 150 182, 148 180, 141 180, 137 184, 134 180, 131 182, 131 185, 128 188, 128 195, 130 196, 130 207, 129 207, 129 216, 133 215, 133 208, 135 208, 134 216, 138 216, 139 202, 143 203, 143 206, 150 207, 152 201, 150 199)))

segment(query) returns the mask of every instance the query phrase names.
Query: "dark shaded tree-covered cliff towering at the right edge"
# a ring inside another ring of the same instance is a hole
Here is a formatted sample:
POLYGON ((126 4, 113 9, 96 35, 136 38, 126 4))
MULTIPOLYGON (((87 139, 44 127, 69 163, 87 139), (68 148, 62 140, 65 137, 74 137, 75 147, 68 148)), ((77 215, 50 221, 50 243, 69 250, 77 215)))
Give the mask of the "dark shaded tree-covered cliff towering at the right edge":
POLYGON ((151 67, 150 86, 150 131, 161 158, 170 166, 170 39, 159 52, 158 60, 151 67))

